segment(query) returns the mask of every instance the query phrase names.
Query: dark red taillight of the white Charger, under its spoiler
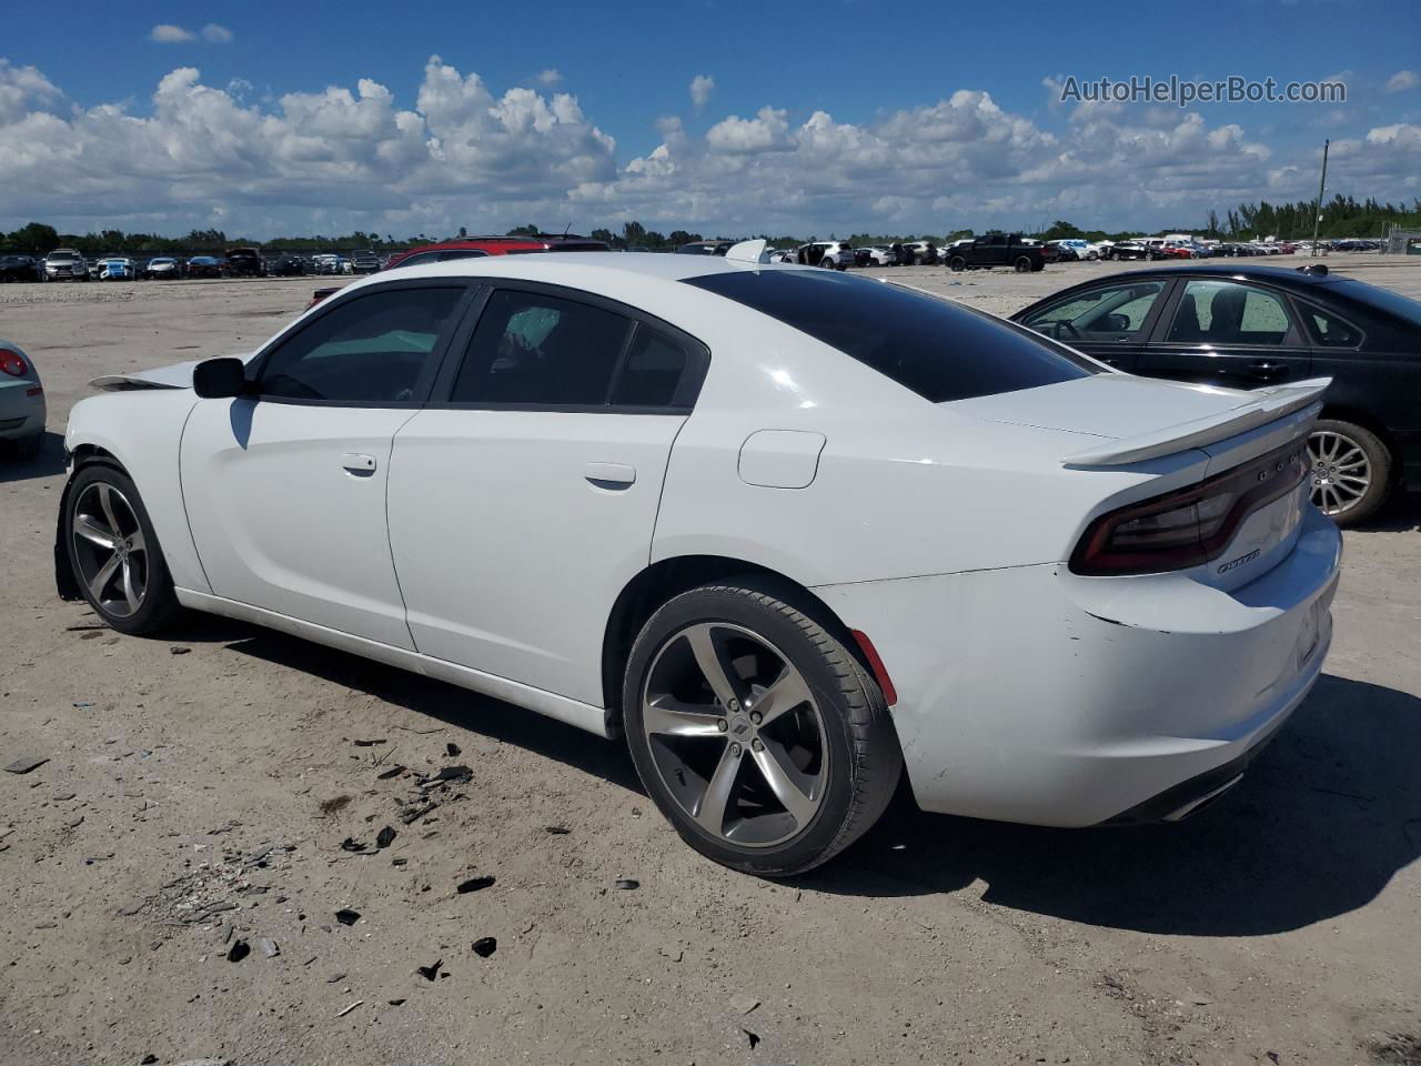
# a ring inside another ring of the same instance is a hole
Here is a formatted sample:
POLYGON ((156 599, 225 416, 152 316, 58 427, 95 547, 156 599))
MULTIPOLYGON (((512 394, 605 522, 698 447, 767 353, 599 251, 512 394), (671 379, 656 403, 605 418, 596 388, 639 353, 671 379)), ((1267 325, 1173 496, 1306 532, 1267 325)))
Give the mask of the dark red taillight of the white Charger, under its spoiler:
POLYGON ((1249 515, 1307 476, 1306 439, 1188 489, 1101 515, 1070 559, 1074 574, 1157 574, 1206 563, 1228 547, 1249 515))

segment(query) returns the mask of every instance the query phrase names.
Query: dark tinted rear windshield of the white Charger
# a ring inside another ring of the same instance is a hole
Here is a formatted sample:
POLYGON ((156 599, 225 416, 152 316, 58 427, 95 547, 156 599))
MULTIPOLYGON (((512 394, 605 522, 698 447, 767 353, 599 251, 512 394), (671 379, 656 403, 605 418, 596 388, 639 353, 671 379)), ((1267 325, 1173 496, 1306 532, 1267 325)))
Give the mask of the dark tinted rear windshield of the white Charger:
POLYGON ((1094 364, 1009 323, 838 271, 736 270, 686 284, 793 325, 934 404, 1097 372, 1094 364))

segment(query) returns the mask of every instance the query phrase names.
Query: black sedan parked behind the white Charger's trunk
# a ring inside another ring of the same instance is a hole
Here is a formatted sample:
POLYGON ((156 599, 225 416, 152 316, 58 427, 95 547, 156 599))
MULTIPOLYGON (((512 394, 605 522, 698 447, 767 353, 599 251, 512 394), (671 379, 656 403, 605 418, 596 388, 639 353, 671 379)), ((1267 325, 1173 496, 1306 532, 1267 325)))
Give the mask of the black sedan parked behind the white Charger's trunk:
POLYGON ((1243 263, 1147 267, 1066 289, 1013 321, 1151 378, 1259 388, 1331 378, 1313 502, 1339 524, 1421 490, 1421 303, 1329 274, 1243 263))

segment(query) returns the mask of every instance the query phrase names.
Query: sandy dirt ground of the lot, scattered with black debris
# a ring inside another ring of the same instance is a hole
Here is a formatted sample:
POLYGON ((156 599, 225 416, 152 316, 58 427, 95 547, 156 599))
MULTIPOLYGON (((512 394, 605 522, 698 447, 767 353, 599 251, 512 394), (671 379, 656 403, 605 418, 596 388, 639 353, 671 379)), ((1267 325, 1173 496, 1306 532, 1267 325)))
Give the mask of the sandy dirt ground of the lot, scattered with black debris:
MULTIPOLYGON (((1330 263, 1421 296, 1421 262, 1330 263)), ((1012 311, 1114 269, 895 273, 1012 311)), ((899 804, 772 884, 681 844, 617 745, 257 628, 138 640, 55 598, 85 382, 250 350, 315 284, 0 287, 53 431, 0 465, 0 765, 47 759, 0 773, 0 1062, 1421 1062, 1417 500, 1347 534, 1326 675, 1198 817, 899 804), (443 768, 470 776, 411 773, 443 768)))

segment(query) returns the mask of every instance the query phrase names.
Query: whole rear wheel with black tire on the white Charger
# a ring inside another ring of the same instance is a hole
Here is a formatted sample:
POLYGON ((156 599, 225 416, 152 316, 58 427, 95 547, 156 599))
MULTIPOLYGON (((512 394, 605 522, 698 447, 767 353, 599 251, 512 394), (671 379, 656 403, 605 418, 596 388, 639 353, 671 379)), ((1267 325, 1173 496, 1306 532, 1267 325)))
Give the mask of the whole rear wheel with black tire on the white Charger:
POLYGON ((814 608, 759 578, 662 605, 622 685, 642 785, 681 839, 742 873, 787 877, 882 814, 902 752, 882 692, 814 608))

